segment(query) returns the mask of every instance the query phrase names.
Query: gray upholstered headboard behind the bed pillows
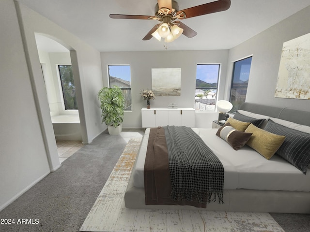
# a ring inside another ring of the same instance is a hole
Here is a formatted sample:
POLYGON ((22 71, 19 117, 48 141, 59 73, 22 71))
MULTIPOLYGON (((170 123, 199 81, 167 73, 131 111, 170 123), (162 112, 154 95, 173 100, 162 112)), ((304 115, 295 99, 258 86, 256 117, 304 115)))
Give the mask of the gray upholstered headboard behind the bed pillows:
POLYGON ((294 110, 291 108, 281 108, 257 103, 245 102, 240 106, 240 110, 249 111, 255 114, 280 118, 286 121, 310 126, 310 111, 294 110))

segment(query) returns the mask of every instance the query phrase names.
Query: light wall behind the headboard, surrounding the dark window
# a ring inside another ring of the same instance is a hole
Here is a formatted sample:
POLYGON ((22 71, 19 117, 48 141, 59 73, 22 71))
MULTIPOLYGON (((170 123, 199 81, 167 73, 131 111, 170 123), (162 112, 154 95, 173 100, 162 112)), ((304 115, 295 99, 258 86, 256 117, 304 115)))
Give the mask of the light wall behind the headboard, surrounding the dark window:
POLYGON ((282 45, 310 32, 309 15, 310 7, 307 7, 230 50, 227 83, 231 82, 233 61, 253 55, 246 102, 310 109, 309 100, 274 97, 282 45))

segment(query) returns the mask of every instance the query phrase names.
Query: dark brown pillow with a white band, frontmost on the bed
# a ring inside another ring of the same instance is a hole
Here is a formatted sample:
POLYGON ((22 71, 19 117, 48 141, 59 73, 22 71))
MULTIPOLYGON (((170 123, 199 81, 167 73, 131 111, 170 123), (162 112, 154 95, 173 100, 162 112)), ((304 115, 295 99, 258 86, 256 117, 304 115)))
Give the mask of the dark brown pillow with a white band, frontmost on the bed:
POLYGON ((248 142, 251 135, 252 133, 237 131, 230 123, 225 123, 225 125, 217 131, 217 136, 225 140, 236 151, 248 142))

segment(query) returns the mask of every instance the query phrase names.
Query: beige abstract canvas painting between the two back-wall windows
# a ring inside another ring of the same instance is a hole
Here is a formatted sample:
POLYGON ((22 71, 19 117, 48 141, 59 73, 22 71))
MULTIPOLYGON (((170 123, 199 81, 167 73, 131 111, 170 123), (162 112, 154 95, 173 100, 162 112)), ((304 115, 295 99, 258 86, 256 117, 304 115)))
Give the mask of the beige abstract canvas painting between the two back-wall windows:
POLYGON ((152 69, 155 96, 181 96, 181 69, 152 69))

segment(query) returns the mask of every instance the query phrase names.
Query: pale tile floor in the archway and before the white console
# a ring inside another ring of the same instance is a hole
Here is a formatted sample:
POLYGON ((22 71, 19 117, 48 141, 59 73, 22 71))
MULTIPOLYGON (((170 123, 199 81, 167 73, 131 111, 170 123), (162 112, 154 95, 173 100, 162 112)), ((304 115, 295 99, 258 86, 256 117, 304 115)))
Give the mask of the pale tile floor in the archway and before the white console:
MULTIPOLYGON (((132 137, 142 137, 143 134, 144 134, 144 130, 138 128, 138 129, 123 129, 120 135, 128 143, 130 138, 132 138, 132 137)), ((56 144, 57 144, 57 151, 58 151, 59 161, 61 163, 64 160, 68 159, 70 156, 72 156, 81 147, 84 146, 82 144, 82 141, 56 141, 56 144)))

